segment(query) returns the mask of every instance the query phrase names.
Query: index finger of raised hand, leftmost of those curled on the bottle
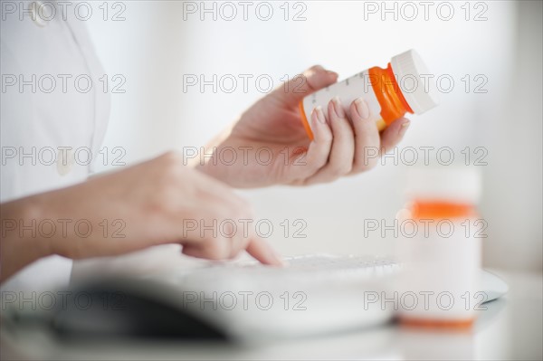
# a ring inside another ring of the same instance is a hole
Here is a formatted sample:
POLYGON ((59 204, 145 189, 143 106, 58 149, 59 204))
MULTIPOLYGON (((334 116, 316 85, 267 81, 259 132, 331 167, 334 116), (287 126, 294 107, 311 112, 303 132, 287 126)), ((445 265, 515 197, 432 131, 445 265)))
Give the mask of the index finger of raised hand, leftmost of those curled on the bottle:
POLYGON ((295 159, 287 172, 291 175, 291 182, 295 184, 303 184, 307 178, 317 173, 328 162, 332 147, 332 130, 326 122, 321 107, 311 112, 311 128, 314 138, 308 151, 295 159))

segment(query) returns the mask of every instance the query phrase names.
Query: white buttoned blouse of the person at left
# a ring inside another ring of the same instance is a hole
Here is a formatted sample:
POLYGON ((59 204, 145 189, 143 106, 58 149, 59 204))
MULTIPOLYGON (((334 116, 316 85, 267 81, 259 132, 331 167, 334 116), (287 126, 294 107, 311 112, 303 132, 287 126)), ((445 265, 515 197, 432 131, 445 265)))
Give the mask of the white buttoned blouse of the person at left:
MULTIPOLYGON (((14 5, 1 22, 1 202, 85 181, 110 112, 85 22, 55 2, 14 5)), ((54 290, 70 273, 71 260, 47 257, 2 290, 54 290)))

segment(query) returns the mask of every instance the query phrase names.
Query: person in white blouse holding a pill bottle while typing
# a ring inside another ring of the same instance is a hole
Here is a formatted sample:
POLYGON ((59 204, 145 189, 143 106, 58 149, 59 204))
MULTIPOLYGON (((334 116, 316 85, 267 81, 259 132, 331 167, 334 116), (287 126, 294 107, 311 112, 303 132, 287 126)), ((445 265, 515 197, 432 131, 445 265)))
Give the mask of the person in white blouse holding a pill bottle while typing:
POLYGON ((365 147, 386 151, 409 125, 398 119, 379 134, 364 100, 355 100, 346 113, 335 99, 311 114, 310 141, 298 102, 338 79, 313 66, 257 101, 210 143, 214 157, 221 149, 240 151, 233 164, 208 158, 184 166, 168 152, 89 179, 91 165, 74 157, 81 149, 93 158, 100 152, 109 115, 107 94, 97 86, 103 71, 84 22, 72 12, 61 16, 52 4, 52 19, 43 19, 39 2, 24 2, 22 18, 17 9, 2 20, 3 288, 56 288, 67 282, 71 259, 162 243, 180 243, 183 253, 195 257, 221 260, 246 251, 262 263, 281 264, 251 227, 226 236, 194 227, 187 232, 184 221, 252 219, 250 204, 231 187, 312 185, 363 172, 376 164, 365 159, 365 147), (255 157, 262 147, 271 149, 270 164, 255 157), (122 221, 119 237, 105 232, 115 220, 122 221))

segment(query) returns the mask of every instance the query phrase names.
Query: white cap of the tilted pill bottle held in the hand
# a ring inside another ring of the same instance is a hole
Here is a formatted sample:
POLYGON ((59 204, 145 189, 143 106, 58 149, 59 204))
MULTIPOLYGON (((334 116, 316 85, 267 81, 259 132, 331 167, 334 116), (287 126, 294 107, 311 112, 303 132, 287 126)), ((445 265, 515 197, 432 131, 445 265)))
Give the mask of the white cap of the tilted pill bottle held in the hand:
POLYGON ((396 55, 390 65, 407 104, 415 114, 422 114, 439 104, 433 77, 429 76, 431 72, 417 52, 409 50, 396 55))

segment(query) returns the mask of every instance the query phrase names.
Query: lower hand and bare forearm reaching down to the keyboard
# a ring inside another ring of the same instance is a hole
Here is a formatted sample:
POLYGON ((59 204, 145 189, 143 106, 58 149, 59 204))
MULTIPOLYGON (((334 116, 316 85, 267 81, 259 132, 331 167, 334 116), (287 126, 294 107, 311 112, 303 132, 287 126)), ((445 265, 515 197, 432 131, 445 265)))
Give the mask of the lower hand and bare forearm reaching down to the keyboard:
POLYGON ((167 153, 81 185, 2 204, 1 276, 5 280, 51 254, 81 259, 162 243, 181 243, 183 253, 211 260, 246 250, 262 263, 280 264, 254 233, 252 217, 249 204, 227 185, 167 153))

